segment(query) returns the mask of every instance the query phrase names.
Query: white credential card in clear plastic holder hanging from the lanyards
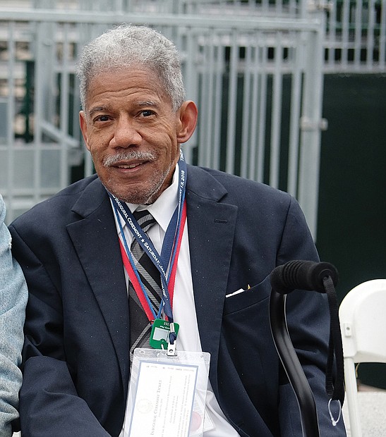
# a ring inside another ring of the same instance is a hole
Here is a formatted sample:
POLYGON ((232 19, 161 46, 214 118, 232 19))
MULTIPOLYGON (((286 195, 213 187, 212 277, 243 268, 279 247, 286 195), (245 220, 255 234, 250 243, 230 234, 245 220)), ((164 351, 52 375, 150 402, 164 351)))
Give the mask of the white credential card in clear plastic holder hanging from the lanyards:
POLYGON ((136 349, 123 437, 203 435, 210 354, 136 349))

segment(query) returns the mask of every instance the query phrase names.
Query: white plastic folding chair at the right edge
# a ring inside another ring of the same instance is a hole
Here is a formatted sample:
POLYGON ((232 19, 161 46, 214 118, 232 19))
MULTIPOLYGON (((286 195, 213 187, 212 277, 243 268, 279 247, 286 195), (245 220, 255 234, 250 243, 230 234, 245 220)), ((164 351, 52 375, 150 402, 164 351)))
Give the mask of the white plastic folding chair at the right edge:
MULTIPOLYGON (((344 355, 344 379, 346 383, 346 407, 349 412, 351 437, 361 437, 361 411, 358 402, 356 385, 356 370, 354 363, 382 362, 386 363, 386 279, 374 279, 357 285, 342 300, 339 307, 339 319, 342 331, 344 355)), ((380 395, 386 402, 386 393, 374 392, 374 406, 379 407, 380 395)), ((368 392, 359 395, 369 395, 368 392)), ((367 402, 368 403, 368 402, 367 402)), ((369 410, 371 409, 369 406, 369 410)), ((374 408, 374 410, 376 410, 374 408)), ((383 421, 385 424, 385 411, 381 417, 372 421, 383 421)), ((347 423, 347 419, 345 418, 347 423)), ((371 426, 380 424, 371 423, 371 426)), ((385 436, 383 431, 370 431, 367 435, 385 436), (378 433, 379 432, 379 433, 378 433)))

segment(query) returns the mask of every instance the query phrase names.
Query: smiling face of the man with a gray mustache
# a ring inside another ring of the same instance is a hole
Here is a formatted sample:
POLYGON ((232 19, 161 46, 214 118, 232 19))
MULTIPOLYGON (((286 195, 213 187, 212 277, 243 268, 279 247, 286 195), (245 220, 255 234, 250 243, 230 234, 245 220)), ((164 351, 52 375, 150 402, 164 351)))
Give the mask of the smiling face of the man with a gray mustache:
POLYGON ((179 160, 180 112, 151 70, 128 68, 91 80, 80 128, 109 192, 147 204, 170 185, 179 160))

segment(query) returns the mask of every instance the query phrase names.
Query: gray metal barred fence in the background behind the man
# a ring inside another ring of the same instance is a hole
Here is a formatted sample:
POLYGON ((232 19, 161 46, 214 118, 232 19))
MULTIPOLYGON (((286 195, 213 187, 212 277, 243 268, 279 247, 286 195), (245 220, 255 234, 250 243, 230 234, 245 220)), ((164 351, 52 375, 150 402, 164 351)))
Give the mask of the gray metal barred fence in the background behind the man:
POLYGON ((200 109, 187 160, 287 190, 316 235, 323 71, 385 71, 385 1, 367 14, 361 3, 359 14, 352 1, 25 0, 10 8, 0 0, 7 221, 73 173, 92 173, 78 128, 76 59, 90 38, 131 22, 157 27, 181 51, 188 98, 200 109))

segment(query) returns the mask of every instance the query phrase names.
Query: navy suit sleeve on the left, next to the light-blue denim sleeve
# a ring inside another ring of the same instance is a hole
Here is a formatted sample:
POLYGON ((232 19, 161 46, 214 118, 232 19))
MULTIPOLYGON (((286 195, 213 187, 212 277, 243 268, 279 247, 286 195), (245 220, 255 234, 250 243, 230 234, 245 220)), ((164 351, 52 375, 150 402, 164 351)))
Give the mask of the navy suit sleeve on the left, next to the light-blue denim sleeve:
POLYGON ((78 396, 66 364, 61 295, 16 228, 13 253, 28 283, 20 424, 23 437, 107 437, 88 404, 78 396))

